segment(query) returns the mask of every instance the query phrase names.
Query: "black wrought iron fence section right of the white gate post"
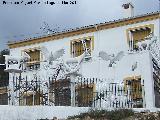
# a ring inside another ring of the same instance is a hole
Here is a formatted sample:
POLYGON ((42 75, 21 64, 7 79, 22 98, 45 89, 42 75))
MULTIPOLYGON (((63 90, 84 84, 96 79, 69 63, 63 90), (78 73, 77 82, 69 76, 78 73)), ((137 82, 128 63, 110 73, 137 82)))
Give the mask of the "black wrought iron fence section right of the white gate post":
POLYGON ((76 106, 139 108, 143 107, 143 84, 131 80, 126 84, 107 83, 97 78, 79 78, 76 83, 76 106))

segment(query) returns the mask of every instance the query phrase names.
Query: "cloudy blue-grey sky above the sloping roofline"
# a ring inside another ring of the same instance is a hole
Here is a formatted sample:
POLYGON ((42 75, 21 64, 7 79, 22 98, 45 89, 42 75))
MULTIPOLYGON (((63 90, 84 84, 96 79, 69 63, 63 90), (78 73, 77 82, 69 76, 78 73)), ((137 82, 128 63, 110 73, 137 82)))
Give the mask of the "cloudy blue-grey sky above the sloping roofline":
MULTIPOLYGON (((127 0, 0 0, 0 50, 8 41, 47 34, 40 29, 66 30, 123 18, 122 4, 127 0), (31 2, 32 4, 26 4, 31 2), (62 1, 73 4, 62 4, 62 1), (12 2, 12 3, 11 3, 12 2), (19 2, 15 4, 14 2, 19 2), (46 2, 46 3, 45 3, 46 2), (26 5, 25 5, 26 4, 26 5)), ((158 0, 128 0, 135 15, 158 11, 158 0)))

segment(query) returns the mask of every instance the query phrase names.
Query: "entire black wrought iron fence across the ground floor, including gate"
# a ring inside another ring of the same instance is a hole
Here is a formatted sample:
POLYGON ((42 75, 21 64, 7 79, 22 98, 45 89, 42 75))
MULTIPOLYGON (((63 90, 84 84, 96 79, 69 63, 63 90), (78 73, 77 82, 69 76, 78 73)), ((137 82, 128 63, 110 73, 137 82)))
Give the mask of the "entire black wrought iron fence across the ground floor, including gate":
POLYGON ((77 107, 140 108, 144 106, 144 86, 141 79, 123 84, 108 83, 106 79, 81 78, 74 82, 49 78, 42 82, 37 77, 13 77, 9 103, 17 105, 53 105, 77 107), (74 84, 73 84, 74 83, 74 84))

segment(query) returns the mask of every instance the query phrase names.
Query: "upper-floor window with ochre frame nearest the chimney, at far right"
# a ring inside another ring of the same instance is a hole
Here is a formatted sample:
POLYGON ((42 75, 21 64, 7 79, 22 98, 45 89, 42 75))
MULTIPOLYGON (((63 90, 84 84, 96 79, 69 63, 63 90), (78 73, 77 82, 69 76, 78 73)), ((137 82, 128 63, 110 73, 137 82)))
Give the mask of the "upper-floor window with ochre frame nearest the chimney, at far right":
POLYGON ((136 45, 137 42, 144 41, 145 37, 153 33, 153 28, 154 25, 151 24, 127 29, 127 41, 129 44, 129 50, 138 50, 138 46, 136 45))

